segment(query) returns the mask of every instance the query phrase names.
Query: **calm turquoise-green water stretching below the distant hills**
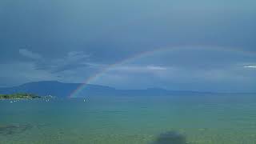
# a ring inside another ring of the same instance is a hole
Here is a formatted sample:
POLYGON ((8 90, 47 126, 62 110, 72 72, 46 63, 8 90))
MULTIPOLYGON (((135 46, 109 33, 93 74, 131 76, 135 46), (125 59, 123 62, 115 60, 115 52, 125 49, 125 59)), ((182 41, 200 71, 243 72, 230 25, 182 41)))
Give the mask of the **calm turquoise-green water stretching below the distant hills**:
POLYGON ((254 95, 0 101, 0 143, 256 143, 254 95))

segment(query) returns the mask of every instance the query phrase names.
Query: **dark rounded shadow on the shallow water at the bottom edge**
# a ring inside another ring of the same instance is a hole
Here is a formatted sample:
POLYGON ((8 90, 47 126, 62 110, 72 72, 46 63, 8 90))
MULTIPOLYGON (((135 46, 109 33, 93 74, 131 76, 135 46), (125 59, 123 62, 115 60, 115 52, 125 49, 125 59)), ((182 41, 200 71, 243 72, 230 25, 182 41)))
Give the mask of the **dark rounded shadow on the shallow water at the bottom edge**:
POLYGON ((167 131, 159 134, 154 142, 150 144, 188 144, 186 137, 176 131, 167 131))

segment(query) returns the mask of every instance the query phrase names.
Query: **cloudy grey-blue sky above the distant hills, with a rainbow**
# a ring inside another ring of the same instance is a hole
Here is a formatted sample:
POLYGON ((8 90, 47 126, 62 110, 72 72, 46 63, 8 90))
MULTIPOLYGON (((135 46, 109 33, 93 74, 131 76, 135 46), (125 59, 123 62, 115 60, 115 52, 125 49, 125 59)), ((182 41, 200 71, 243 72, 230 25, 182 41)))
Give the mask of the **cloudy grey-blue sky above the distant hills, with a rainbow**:
POLYGON ((254 0, 2 0, 0 86, 256 92, 254 0))

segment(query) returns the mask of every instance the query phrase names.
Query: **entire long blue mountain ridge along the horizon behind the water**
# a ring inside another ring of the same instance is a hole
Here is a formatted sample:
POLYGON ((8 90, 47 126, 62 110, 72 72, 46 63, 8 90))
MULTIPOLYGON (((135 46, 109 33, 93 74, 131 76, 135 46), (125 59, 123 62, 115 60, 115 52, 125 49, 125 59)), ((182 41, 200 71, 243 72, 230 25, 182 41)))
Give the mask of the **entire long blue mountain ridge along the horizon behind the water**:
MULTIPOLYGON (((82 83, 62 83, 57 81, 42 81, 29 82, 20 86, 2 87, 0 94, 14 94, 14 93, 30 93, 38 94, 39 96, 53 95, 59 98, 69 97, 70 94, 77 90, 82 83)), ((78 97, 87 96, 148 96, 148 95, 198 95, 198 94, 214 94, 210 92, 197 91, 175 91, 165 90, 159 88, 149 88, 146 90, 117 90, 110 86, 99 86, 87 84, 80 92, 78 97)))

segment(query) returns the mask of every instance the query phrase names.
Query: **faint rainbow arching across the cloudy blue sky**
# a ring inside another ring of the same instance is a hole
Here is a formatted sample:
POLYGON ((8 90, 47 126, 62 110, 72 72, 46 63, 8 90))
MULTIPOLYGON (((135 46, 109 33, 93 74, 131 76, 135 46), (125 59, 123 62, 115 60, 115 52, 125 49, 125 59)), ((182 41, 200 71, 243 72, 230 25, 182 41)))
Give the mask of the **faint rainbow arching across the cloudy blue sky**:
MULTIPOLYGON (((143 51, 142 53, 134 54, 128 58, 124 58, 120 62, 116 62, 114 64, 111 64, 109 66, 106 66, 103 68, 101 71, 99 71, 96 74, 91 75, 89 78, 86 78, 84 82, 76 90, 74 90, 70 95, 69 98, 75 98, 76 95, 83 90, 87 84, 90 84, 94 81, 96 81, 98 78, 101 78, 103 74, 106 74, 108 71, 113 69, 115 66, 121 66, 127 62, 133 62, 134 60, 138 58, 143 58, 146 56, 150 56, 159 52, 170 52, 173 50, 222 50, 226 52, 237 52, 237 53, 243 53, 243 54, 253 54, 250 51, 245 51, 245 50, 239 50, 238 48, 230 48, 230 47, 223 47, 223 46, 173 46, 173 47, 164 47, 164 48, 158 48, 154 50, 149 50, 149 51, 143 51), (203 49, 202 49, 203 48, 203 49)), ((254 54, 255 56, 255 54, 254 54)))

